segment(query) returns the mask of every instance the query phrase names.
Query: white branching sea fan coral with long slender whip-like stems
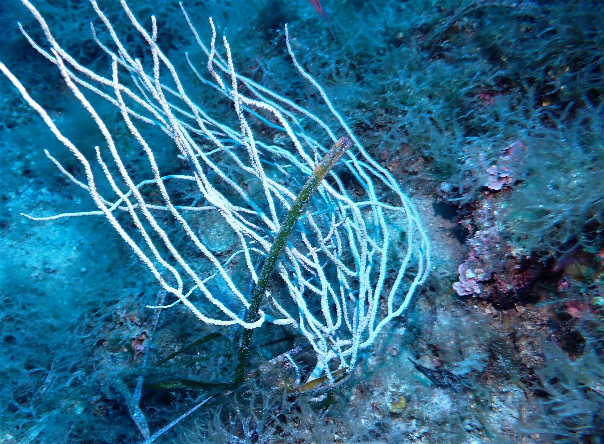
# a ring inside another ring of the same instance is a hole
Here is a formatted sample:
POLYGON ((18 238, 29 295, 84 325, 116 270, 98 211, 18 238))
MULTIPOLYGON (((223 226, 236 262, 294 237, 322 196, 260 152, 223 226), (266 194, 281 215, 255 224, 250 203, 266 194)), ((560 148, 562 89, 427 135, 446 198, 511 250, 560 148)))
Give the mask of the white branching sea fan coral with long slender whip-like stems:
POLYGON ((306 336, 316 353, 316 367, 310 378, 326 375, 333 382, 332 372, 354 368, 359 351, 371 347, 377 334, 403 314, 417 287, 425 281, 430 268, 429 242, 410 199, 393 176, 368 155, 323 88, 298 64, 287 28, 286 43, 292 62, 323 98, 339 123, 337 130, 288 98, 237 74, 226 38, 225 55, 216 48, 211 19, 213 34, 208 49, 184 8, 184 19, 208 57, 211 80, 199 74, 187 55, 188 64, 204 85, 217 89, 234 107, 239 127, 217 121, 210 115, 212 110, 202 109, 190 98, 175 67, 156 42, 158 28, 154 17, 148 31, 126 2, 121 2, 132 26, 148 45, 152 66, 146 70, 91 0, 112 39, 106 45, 94 34, 111 59, 111 76, 103 77, 63 50, 36 8, 27 0, 22 2, 39 22, 50 48, 46 50, 34 42, 23 28, 22 33, 59 68, 66 85, 106 141, 106 146, 95 147, 95 166, 0 63, 5 76, 76 156, 85 177, 77 178, 47 152, 48 158, 69 181, 88 191, 97 207, 94 211, 27 217, 54 220, 104 216, 159 285, 173 295, 174 301, 163 308, 182 303, 200 321, 216 326, 239 324, 245 329, 256 329, 267 322, 291 326, 306 336), (144 151, 140 162, 148 162, 137 164, 136 171, 149 170, 149 179, 133 179, 132 172, 124 166, 124 153, 120 153, 123 142, 101 120, 83 94, 86 90, 119 109, 127 129, 144 151), (152 142, 144 137, 149 126, 173 141, 178 150, 175 160, 178 156, 185 161, 188 173, 162 175, 152 142), (261 140, 259 131, 254 134, 252 127, 262 129, 263 135, 286 137, 261 140), (266 257, 300 184, 327 153, 321 141, 327 140, 331 145, 341 135, 349 137, 353 146, 339 160, 339 169, 332 170, 321 183, 289 237, 277 263, 283 282, 269 285, 258 320, 246 322, 245 309, 250 306, 246 288, 251 280, 258 280, 255 264, 266 257), (198 199, 187 206, 173 190, 191 185, 198 199), (149 198, 149 188, 154 189, 155 200, 149 198), (115 196, 103 196, 101 189, 111 189, 115 196), (157 196, 161 196, 161 201, 157 196), (199 234, 204 227, 198 230, 196 215, 202 211, 219 215, 223 230, 233 234, 228 257, 212 251, 199 234), (170 232, 164 228, 167 218, 177 227, 170 232), (176 239, 183 237, 187 251, 176 246, 176 239), (198 252, 191 259, 193 246, 198 252), (239 261, 246 266, 234 268, 233 263, 239 261), (242 277, 242 273, 246 275, 242 277), (212 280, 221 280, 225 290, 210 291, 212 280))

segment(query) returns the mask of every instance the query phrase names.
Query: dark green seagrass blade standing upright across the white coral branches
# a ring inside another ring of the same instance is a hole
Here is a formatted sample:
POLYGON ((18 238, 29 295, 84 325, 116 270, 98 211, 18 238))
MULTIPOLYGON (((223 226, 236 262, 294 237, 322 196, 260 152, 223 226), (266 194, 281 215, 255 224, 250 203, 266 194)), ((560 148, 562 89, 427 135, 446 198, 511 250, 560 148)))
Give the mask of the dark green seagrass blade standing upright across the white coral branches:
MULTIPOLYGON (((294 228, 296 221, 301 216, 304 207, 306 207, 306 204, 310 201, 310 198, 315 193, 316 188, 318 188, 321 181, 327 176, 329 170, 332 169, 339 158, 341 158, 351 146, 352 141, 348 137, 339 138, 338 141, 333 144, 329 152, 327 152, 323 159, 316 165, 315 170, 313 170, 310 177, 304 182, 298 197, 294 201, 294 204, 292 204, 292 208, 281 222, 281 228, 277 233, 277 237, 275 237, 275 242, 272 243, 268 256, 266 256, 266 260, 262 265, 260 277, 254 287, 249 309, 245 315, 246 323, 254 323, 258 320, 258 310, 260 309, 260 303, 266 292, 266 286, 268 286, 272 271, 274 270, 275 265, 277 265, 281 250, 288 240, 289 234, 292 232, 292 228, 294 228)), ((243 330, 233 385, 239 385, 245 381, 245 370, 248 366, 249 344, 251 343, 253 332, 253 329, 243 330)))

